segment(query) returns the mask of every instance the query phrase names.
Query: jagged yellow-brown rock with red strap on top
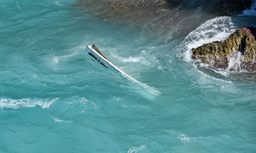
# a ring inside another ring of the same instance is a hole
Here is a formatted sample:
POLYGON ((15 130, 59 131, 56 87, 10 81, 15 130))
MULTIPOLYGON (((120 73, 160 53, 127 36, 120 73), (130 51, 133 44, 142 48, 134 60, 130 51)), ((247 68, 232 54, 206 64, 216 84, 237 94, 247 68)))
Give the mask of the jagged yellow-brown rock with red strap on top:
POLYGON ((256 28, 240 28, 229 39, 193 48, 193 58, 231 71, 256 71, 256 28))

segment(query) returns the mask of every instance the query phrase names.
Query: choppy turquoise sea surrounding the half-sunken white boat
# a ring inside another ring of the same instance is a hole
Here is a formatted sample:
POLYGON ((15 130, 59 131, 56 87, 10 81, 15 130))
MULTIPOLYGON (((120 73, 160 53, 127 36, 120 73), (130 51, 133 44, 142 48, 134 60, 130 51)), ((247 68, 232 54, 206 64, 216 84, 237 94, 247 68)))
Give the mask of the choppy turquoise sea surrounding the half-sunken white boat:
POLYGON ((255 153, 256 73, 191 51, 255 15, 184 0, 137 22, 86 1, 2 0, 0 152, 255 153), (139 83, 88 56, 93 43, 139 83))

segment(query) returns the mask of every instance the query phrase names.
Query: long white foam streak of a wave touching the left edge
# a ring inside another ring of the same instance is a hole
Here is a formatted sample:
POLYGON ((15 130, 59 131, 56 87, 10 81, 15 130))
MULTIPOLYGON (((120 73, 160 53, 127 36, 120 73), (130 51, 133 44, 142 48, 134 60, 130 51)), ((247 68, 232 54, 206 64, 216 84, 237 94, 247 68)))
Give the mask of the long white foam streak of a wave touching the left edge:
POLYGON ((50 105, 58 100, 55 99, 11 99, 11 98, 0 98, 0 108, 12 108, 18 109, 22 107, 35 107, 41 106, 42 108, 49 108, 50 105))

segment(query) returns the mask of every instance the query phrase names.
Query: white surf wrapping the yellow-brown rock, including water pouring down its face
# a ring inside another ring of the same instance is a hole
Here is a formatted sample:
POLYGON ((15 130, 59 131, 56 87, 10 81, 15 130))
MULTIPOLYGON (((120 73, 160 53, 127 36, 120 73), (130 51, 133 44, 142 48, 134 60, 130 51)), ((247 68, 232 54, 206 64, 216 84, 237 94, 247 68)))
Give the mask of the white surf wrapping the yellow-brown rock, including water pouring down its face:
MULTIPOLYGON (((175 48, 177 49, 176 57, 179 60, 183 60, 188 63, 192 63, 196 69, 199 71, 202 71, 200 67, 207 68, 207 70, 212 71, 212 73, 215 74, 221 74, 224 77, 227 77, 229 74, 229 71, 239 71, 240 63, 243 59, 243 55, 235 54, 234 56, 230 56, 228 58, 229 60, 229 66, 226 70, 213 68, 212 66, 209 66, 208 64, 200 63, 198 60, 195 62, 195 60, 192 59, 192 48, 197 48, 198 46, 201 46, 203 44, 213 42, 213 41, 221 41, 228 39, 229 35, 236 31, 238 27, 246 27, 246 26, 253 26, 251 24, 247 25, 237 25, 236 22, 240 20, 241 17, 216 17, 214 19, 208 20, 207 22, 201 24, 197 29, 190 32, 185 39, 177 45, 175 48), (199 64, 200 63, 200 64, 199 64), (215 70, 216 69, 216 70, 215 70)), ((205 72, 203 72, 205 73, 205 72)), ((212 75, 210 75, 212 77, 212 75)))

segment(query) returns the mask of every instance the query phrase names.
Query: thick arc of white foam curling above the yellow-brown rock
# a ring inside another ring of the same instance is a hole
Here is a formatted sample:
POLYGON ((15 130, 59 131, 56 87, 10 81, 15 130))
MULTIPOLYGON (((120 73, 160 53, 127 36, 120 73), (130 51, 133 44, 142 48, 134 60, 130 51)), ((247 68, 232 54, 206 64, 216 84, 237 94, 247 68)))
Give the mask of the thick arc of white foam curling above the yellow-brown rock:
POLYGON ((232 22, 231 17, 222 16, 208 20, 197 29, 190 32, 185 39, 176 46, 178 53, 176 57, 186 62, 192 61, 192 48, 197 48, 205 43, 216 40, 224 40, 234 32, 237 27, 232 22))

